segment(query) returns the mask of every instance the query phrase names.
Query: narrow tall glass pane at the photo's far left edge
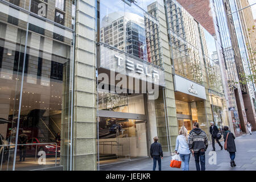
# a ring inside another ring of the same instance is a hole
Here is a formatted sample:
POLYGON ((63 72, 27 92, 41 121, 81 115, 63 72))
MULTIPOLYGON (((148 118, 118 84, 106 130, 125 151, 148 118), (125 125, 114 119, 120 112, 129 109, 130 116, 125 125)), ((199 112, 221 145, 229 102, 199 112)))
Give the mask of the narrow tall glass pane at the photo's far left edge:
POLYGON ((0 143, 11 146, 0 146, 3 171, 13 169, 26 36, 26 31, 6 21, 0 23, 0 143))

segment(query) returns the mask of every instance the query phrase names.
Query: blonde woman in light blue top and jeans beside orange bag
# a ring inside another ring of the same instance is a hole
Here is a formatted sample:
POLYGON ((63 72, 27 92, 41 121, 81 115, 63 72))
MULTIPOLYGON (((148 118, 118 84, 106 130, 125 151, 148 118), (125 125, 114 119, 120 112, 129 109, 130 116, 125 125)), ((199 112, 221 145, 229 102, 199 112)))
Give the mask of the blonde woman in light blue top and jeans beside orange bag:
POLYGON ((183 126, 176 139, 175 153, 180 155, 182 171, 189 171, 191 151, 188 147, 188 130, 183 126))

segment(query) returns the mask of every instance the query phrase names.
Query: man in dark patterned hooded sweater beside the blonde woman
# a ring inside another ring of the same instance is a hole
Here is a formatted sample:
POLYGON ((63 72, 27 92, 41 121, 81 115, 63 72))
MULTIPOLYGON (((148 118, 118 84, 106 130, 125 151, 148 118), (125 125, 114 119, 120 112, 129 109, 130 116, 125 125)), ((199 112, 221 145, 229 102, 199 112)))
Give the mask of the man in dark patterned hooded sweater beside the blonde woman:
POLYGON ((193 123, 193 130, 189 132, 188 146, 195 157, 196 170, 205 171, 205 151, 208 148, 208 138, 207 134, 199 128, 199 123, 197 122, 193 123))

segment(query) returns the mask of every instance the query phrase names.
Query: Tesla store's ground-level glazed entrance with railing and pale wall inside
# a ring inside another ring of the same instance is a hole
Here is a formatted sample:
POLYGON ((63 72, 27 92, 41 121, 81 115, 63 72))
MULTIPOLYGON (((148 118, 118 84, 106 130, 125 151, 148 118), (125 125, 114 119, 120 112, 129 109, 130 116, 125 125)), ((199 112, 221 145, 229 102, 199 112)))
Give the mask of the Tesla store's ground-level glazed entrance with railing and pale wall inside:
POLYGON ((98 119, 97 146, 100 164, 148 156, 147 120, 110 117, 98 119))

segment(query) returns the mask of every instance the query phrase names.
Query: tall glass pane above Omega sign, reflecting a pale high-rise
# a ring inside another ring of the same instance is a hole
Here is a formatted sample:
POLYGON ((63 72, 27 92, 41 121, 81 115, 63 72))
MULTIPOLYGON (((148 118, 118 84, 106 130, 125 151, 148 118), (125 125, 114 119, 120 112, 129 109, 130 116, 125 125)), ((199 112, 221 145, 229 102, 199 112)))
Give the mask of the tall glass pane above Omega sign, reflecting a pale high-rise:
POLYGON ((202 83, 203 57, 200 58, 199 55, 200 38, 197 23, 176 1, 169 0, 166 3, 175 73, 202 83))

